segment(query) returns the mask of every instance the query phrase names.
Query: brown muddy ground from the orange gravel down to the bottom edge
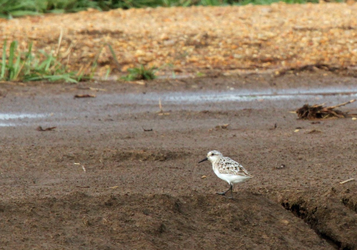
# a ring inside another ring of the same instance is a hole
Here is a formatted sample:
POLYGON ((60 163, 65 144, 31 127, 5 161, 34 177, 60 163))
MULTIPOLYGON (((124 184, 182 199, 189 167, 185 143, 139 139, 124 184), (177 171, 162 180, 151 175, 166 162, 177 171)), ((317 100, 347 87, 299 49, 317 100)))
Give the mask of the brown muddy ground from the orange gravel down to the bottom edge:
POLYGON ((0 249, 357 249, 357 182, 340 184, 357 177, 357 121, 289 112, 354 99, 356 83, 301 72, 1 84, 2 114, 49 115, 2 120, 0 249), (274 97, 327 87, 335 93, 274 97), (215 194, 228 184, 208 162, 197 164, 213 149, 255 175, 234 200, 215 194))

